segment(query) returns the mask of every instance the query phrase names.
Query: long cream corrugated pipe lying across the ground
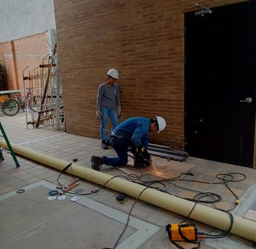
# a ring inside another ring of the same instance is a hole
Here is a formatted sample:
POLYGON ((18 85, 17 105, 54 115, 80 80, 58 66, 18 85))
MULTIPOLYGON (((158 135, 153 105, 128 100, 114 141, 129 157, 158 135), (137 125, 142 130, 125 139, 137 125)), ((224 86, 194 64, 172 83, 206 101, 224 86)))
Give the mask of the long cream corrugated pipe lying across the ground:
MULTIPOLYGON (((5 142, 0 142, 2 148, 7 149, 5 142)), ((37 153, 31 149, 26 149, 22 146, 12 144, 13 151, 30 160, 42 163, 49 167, 54 167, 58 170, 63 170, 69 162, 55 159, 53 156, 47 156, 43 153, 37 153)), ((20 167, 22 168, 22 167, 20 167)), ((78 164, 73 164, 66 170, 67 173, 73 174, 76 177, 81 177, 87 181, 94 182, 99 185, 104 185, 106 188, 111 188, 115 191, 130 195, 133 198, 138 198, 151 205, 158 206, 161 209, 175 212, 181 216, 188 216, 190 211, 194 208, 194 202, 189 202, 183 198, 178 198, 172 195, 165 194, 152 188, 144 190, 146 187, 126 181, 119 177, 114 177, 88 167, 82 167, 78 164)), ((209 208, 205 205, 197 204, 190 215, 191 219, 215 227, 219 230, 228 230, 230 225, 230 218, 226 212, 221 212, 217 209, 209 208)), ((234 223, 231 233, 238 237, 256 242, 256 223, 249 220, 234 216, 234 223)))

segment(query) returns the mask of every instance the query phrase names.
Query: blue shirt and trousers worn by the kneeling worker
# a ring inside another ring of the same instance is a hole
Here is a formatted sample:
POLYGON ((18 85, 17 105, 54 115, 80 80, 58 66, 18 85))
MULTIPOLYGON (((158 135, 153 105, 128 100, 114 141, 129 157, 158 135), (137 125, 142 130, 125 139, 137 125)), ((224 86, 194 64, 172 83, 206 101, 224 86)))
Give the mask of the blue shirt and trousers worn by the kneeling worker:
POLYGON ((147 149, 150 125, 151 120, 147 117, 130 117, 117 125, 112 130, 109 142, 112 148, 116 150, 118 157, 103 156, 104 163, 112 167, 124 166, 128 162, 127 153, 130 146, 135 148, 144 146, 147 149))

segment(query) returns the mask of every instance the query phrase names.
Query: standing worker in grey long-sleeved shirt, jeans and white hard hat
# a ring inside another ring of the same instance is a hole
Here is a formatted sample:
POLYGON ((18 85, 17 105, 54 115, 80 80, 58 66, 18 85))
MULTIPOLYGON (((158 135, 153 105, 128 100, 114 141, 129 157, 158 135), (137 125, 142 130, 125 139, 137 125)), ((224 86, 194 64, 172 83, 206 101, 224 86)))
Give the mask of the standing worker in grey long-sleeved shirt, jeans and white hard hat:
MULTIPOLYGON (((98 87, 98 95, 96 100, 96 117, 101 120, 101 148, 108 149, 108 139, 106 140, 106 130, 108 125, 108 117, 112 123, 112 128, 118 125, 118 118, 121 117, 121 101, 119 86, 116 84, 119 79, 119 72, 115 69, 109 69, 107 72, 107 82, 102 83, 98 87)), ((108 135, 108 136, 109 136, 108 135)))

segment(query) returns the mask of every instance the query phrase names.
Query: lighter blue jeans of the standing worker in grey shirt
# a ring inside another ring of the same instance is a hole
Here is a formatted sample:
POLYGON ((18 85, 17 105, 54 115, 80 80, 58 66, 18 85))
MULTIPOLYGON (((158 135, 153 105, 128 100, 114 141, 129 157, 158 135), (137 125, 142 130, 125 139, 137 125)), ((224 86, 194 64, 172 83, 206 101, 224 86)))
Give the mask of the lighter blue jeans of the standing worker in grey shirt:
POLYGON ((110 118, 110 121, 112 123, 112 128, 109 131, 112 132, 112 129, 115 128, 118 125, 118 118, 117 118, 117 113, 116 110, 108 110, 107 108, 101 107, 101 141, 105 141, 106 139, 106 130, 107 130, 107 125, 108 125, 108 117, 110 118))

